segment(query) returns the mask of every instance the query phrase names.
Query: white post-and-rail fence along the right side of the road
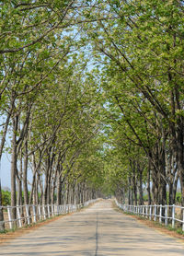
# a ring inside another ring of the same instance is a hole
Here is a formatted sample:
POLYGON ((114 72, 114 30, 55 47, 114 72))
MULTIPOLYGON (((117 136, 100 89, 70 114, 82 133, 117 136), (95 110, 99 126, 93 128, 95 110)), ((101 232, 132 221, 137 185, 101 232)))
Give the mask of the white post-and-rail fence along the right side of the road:
POLYGON ((182 223, 182 231, 184 231, 184 207, 179 205, 130 205, 120 204, 115 200, 117 206, 126 213, 134 215, 142 215, 150 220, 158 220, 159 223, 165 223, 167 226, 171 223, 175 227, 176 222, 182 223))

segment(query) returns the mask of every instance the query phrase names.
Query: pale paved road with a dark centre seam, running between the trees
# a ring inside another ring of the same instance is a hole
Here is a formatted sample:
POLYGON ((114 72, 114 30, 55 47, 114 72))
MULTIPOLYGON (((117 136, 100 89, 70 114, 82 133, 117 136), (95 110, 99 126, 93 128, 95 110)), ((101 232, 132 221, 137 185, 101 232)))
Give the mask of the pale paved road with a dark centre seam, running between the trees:
POLYGON ((184 244, 99 201, 0 247, 0 255, 181 256, 184 244))

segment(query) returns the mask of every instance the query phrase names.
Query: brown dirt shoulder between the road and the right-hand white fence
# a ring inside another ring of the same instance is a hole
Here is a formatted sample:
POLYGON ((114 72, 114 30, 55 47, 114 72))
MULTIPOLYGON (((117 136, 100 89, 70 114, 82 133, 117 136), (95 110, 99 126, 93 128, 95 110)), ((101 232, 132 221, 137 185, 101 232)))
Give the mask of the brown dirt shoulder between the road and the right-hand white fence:
POLYGON ((162 226, 162 225, 158 224, 157 222, 154 222, 153 220, 144 219, 143 217, 138 216, 138 215, 125 214, 120 208, 117 207, 117 205, 115 203, 112 203, 112 204, 113 204, 113 208, 116 211, 121 212, 123 215, 127 215, 129 217, 137 219, 139 223, 141 223, 141 224, 143 224, 143 225, 145 225, 147 227, 154 228, 155 230, 157 230, 157 231, 159 231, 159 232, 161 232, 161 233, 163 233, 163 234, 165 234, 167 236, 179 239, 182 243, 184 243, 184 235, 178 234, 177 231, 169 230, 164 225, 162 226))

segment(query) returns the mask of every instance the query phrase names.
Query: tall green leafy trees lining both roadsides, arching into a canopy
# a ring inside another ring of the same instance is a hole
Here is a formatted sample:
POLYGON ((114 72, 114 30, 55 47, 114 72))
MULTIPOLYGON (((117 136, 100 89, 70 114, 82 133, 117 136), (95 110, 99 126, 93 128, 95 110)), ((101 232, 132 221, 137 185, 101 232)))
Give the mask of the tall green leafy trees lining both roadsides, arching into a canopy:
POLYGON ((144 204, 144 185, 148 204, 175 204, 179 187, 184 205, 183 1, 4 1, 0 12, 11 205, 22 190, 24 204, 100 192, 144 204))

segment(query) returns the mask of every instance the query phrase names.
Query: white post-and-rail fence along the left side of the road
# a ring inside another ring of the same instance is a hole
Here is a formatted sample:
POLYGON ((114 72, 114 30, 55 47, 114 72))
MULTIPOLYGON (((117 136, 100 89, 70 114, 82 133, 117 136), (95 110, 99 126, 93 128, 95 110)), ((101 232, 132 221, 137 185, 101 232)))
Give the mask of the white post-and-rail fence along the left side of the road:
POLYGON ((30 225, 31 223, 36 223, 40 220, 45 220, 47 218, 53 217, 55 215, 65 215, 69 213, 74 213, 82 207, 86 207, 89 204, 95 203, 95 200, 89 200, 84 204, 31 204, 31 205, 17 205, 17 206, 0 206, 3 208, 4 221, 0 221, 0 224, 4 224, 5 228, 12 229, 13 227, 23 227, 30 225), (17 218, 12 218, 12 211, 16 209, 17 218))

